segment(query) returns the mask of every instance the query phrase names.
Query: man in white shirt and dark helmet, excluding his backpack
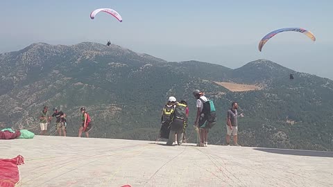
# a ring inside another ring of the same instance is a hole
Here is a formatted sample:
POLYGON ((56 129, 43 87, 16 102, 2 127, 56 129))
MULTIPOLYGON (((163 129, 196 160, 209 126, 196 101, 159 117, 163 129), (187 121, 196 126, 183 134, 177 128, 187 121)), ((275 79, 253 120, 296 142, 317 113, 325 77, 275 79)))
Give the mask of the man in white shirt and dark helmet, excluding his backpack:
POLYGON ((193 96, 196 98, 196 122, 194 125, 199 128, 199 143, 198 146, 204 147, 207 146, 207 136, 208 136, 208 129, 207 127, 203 127, 203 124, 207 121, 207 119, 203 116, 203 103, 206 102, 208 99, 206 98, 205 94, 198 89, 193 91, 193 96))

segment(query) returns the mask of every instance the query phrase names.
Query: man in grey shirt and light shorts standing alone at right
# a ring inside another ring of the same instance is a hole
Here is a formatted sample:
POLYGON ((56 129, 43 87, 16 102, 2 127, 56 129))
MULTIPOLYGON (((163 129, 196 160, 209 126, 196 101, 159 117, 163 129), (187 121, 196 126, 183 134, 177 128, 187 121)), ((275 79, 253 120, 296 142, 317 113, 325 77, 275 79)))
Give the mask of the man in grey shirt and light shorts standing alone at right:
POLYGON ((231 108, 228 109, 227 112, 227 136, 225 140, 227 141, 227 145, 230 145, 230 136, 233 136, 234 145, 240 146, 238 144, 237 132, 238 132, 238 116, 243 117, 243 114, 238 115, 237 112, 238 103, 233 102, 231 104, 231 108))

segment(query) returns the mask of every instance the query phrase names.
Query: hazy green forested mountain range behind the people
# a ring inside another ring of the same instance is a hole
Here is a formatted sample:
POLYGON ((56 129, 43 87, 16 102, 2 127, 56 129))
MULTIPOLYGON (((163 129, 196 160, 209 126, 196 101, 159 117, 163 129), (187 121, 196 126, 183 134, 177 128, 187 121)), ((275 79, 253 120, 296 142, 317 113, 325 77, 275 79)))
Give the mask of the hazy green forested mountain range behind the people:
MULTIPOLYGON (((167 62, 114 44, 38 43, 0 54, 0 66, 0 127, 39 133, 38 115, 47 105, 67 114, 67 133, 76 136, 79 109, 85 106, 94 119, 94 137, 155 140, 161 109, 169 96, 176 96, 189 103, 187 136, 195 141, 191 124, 196 100, 191 93, 200 89, 218 111, 209 143, 225 142, 226 111, 237 101, 245 114, 239 118, 241 145, 333 150, 333 81, 269 60, 230 69, 167 62), (250 86, 257 89, 241 91, 250 86)), ((55 134, 54 121, 50 133, 55 134)))

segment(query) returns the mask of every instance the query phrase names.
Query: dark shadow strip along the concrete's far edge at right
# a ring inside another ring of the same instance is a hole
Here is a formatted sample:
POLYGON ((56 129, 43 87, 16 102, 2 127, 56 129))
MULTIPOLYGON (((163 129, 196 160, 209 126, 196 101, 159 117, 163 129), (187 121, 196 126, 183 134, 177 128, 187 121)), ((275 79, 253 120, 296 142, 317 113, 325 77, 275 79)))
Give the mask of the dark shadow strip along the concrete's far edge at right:
POLYGON ((326 152, 326 151, 314 151, 314 150, 281 150, 281 149, 271 149, 271 148, 253 148, 253 149, 275 154, 290 154, 290 155, 307 156, 307 157, 333 157, 333 152, 328 152, 328 151, 326 152))

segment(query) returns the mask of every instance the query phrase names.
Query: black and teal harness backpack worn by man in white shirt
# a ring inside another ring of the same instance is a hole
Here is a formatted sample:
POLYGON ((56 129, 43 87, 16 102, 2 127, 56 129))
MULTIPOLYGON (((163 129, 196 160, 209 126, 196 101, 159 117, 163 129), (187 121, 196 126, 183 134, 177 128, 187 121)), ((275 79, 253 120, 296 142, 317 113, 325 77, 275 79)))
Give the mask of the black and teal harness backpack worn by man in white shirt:
POLYGON ((199 98, 203 103, 203 111, 200 115, 199 126, 200 128, 212 128, 216 123, 216 110, 213 100, 204 101, 199 98))

